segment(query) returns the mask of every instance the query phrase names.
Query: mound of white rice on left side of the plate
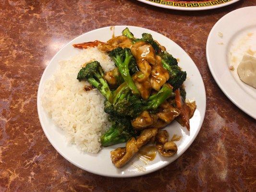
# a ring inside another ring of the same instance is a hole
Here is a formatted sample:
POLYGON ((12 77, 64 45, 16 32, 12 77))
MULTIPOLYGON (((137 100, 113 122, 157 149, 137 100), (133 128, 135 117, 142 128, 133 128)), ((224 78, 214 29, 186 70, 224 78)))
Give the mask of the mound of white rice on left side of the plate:
POLYGON ((104 96, 97 89, 85 91, 87 82, 76 77, 84 64, 98 60, 103 70, 114 67, 110 57, 97 48, 87 48, 69 60, 59 62, 58 70, 44 87, 42 105, 54 123, 67 135, 68 141, 89 153, 100 150, 100 136, 108 129, 104 96))

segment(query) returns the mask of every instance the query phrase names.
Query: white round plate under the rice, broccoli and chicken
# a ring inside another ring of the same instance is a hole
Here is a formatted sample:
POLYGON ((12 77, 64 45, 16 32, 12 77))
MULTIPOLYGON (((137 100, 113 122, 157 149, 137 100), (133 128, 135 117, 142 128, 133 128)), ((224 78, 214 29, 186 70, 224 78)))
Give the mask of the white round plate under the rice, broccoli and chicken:
MULTIPOLYGON (((115 35, 121 35, 122 30, 125 27, 126 26, 115 26, 115 35)), ((46 80, 55 72, 58 61, 66 60, 80 51, 77 48, 73 48, 72 44, 94 41, 97 39, 100 41, 107 41, 112 37, 113 32, 110 31, 110 27, 104 27, 90 31, 73 39, 66 46, 61 48, 61 50, 52 58, 42 75, 37 94, 38 116, 49 142, 61 154, 61 156, 79 168, 103 176, 134 177, 144 175, 167 166, 181 156, 192 144, 201 128, 205 116, 206 93, 204 83, 195 63, 188 54, 172 40, 159 33, 141 27, 128 27, 134 33, 134 36, 137 37, 140 37, 144 32, 151 33, 153 38, 158 40, 161 45, 164 45, 174 57, 180 59, 180 66, 188 74, 188 78, 185 82, 187 98, 195 99, 197 108, 195 110, 195 115, 190 120, 190 132, 188 132, 186 128, 181 127, 176 121, 172 122, 171 125, 166 128, 170 133, 170 136, 173 134, 182 135, 182 139, 179 142, 176 142, 178 145, 178 152, 171 158, 164 158, 157 155, 153 161, 149 162, 148 165, 145 165, 137 156, 135 156, 124 168, 118 169, 111 163, 110 151, 119 146, 124 146, 124 144, 103 148, 98 154, 82 153, 75 145, 67 144, 64 133, 53 124, 52 120, 49 119, 47 113, 43 109, 40 100, 43 92, 43 86, 46 80)))

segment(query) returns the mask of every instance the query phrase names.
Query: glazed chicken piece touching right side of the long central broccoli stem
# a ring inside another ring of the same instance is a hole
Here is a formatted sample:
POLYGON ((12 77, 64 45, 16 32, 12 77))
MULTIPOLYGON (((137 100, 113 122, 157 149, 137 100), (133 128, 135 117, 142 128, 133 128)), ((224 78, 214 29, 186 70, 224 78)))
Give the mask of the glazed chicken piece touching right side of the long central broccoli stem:
POLYGON ((144 81, 142 81, 142 82, 139 79, 140 78, 137 77, 136 74, 133 76, 134 83, 135 83, 138 91, 140 92, 140 96, 144 100, 146 100, 146 99, 148 99, 148 97, 151 94, 151 84, 150 84, 150 81, 149 81, 149 77, 147 79, 145 79, 144 81))

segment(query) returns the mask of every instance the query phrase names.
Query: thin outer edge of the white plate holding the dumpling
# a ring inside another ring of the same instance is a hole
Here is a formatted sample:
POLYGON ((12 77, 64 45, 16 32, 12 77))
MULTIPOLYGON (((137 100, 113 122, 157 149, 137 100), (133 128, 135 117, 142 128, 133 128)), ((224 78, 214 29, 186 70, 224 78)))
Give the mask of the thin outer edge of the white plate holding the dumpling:
MULTIPOLYGON (((249 7, 255 7, 255 6, 249 6, 249 7)), ((232 96, 230 96, 228 93, 225 92, 225 90, 224 90, 224 88, 223 88, 223 85, 220 83, 220 81, 218 80, 216 74, 214 73, 214 70, 213 70, 212 65, 209 64, 209 63, 211 63, 211 62, 210 62, 210 60, 209 60, 209 52, 208 52, 208 49, 209 49, 209 48, 208 48, 208 47, 209 47, 209 38, 210 38, 210 36, 212 36, 215 27, 222 21, 222 19, 224 19, 226 16, 232 14, 233 12, 236 12, 236 11, 238 11, 238 10, 247 9, 247 8, 249 8, 249 7, 243 7, 243 8, 240 8, 240 9, 236 9, 236 10, 234 10, 234 11, 232 11, 232 12, 229 12, 229 13, 225 14, 223 17, 221 17, 221 18, 219 19, 219 21, 217 21, 216 24, 213 25, 213 27, 212 27, 212 29, 211 29, 209 35, 208 35, 208 38, 207 38, 207 43, 206 43, 206 58, 207 58, 207 64, 208 64, 208 67, 209 67, 209 69, 210 69, 210 72, 211 72, 211 74, 212 74, 212 76, 213 76, 215 82, 218 84, 220 90, 225 94, 225 96, 227 96, 227 97, 229 98, 229 100, 230 100, 236 107, 240 108, 242 111, 244 111, 244 113, 246 113, 246 114, 249 115, 250 117, 256 119, 256 115, 250 114, 250 112, 249 112, 247 109, 245 109, 243 106, 241 106, 240 104, 238 104, 238 103, 232 98, 232 96)))

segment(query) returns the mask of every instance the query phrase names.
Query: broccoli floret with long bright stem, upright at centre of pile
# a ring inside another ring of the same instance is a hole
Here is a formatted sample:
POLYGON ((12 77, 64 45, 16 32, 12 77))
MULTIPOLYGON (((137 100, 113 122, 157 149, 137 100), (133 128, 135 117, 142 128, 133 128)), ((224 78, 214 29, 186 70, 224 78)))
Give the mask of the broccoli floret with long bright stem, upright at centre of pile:
POLYGON ((130 75, 129 63, 134 57, 129 48, 115 48, 110 51, 109 56, 114 60, 119 72, 122 75, 124 82, 129 86, 134 95, 139 95, 139 91, 134 84, 134 81, 130 75))

